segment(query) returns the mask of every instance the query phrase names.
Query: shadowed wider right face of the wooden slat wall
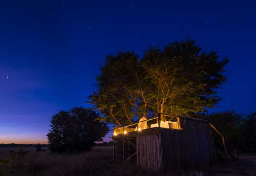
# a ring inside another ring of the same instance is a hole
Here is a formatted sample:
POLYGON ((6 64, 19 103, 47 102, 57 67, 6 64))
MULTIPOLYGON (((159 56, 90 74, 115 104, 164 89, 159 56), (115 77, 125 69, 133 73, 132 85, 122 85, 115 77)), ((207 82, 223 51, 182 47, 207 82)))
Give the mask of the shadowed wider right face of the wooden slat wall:
POLYGON ((160 130, 163 168, 170 170, 214 162, 212 137, 201 130, 160 130))

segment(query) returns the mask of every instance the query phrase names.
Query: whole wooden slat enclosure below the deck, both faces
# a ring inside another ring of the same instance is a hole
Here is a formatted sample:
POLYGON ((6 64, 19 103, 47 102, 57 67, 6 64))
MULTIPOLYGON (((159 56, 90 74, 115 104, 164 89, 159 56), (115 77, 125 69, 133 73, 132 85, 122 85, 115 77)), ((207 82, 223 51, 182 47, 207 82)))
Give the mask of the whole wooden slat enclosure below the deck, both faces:
POLYGON ((137 136, 137 164, 156 171, 195 167, 216 161, 209 123, 181 119, 187 129, 160 128, 137 136))

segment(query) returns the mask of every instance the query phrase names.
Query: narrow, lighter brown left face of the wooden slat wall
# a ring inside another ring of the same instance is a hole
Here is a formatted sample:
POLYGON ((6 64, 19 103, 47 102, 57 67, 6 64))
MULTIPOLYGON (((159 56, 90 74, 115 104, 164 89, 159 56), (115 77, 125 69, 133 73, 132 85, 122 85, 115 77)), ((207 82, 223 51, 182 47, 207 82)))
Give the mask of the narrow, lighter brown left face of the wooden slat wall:
POLYGON ((162 170, 162 151, 159 131, 137 136, 137 165, 155 171, 162 170))

